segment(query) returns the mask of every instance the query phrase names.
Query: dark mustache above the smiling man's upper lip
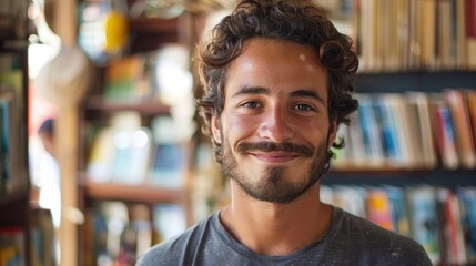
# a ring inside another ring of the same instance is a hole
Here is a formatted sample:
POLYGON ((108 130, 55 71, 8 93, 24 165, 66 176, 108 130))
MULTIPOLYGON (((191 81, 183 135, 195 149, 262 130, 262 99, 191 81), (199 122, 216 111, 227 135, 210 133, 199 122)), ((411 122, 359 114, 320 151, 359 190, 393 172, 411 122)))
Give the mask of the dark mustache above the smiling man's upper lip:
POLYGON ((295 144, 291 142, 243 142, 236 146, 237 152, 252 152, 252 151, 262 151, 262 152, 285 152, 285 153, 298 153, 306 157, 311 157, 314 153, 314 150, 310 146, 295 144))

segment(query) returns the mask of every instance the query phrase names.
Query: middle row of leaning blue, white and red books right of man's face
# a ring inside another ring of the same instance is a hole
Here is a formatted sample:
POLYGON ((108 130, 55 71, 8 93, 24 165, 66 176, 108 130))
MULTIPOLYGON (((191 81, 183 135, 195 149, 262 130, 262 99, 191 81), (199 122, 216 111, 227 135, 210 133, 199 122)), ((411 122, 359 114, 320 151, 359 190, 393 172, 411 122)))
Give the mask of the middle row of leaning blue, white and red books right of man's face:
POLYGON ((335 168, 476 167, 476 90, 356 94, 335 168))

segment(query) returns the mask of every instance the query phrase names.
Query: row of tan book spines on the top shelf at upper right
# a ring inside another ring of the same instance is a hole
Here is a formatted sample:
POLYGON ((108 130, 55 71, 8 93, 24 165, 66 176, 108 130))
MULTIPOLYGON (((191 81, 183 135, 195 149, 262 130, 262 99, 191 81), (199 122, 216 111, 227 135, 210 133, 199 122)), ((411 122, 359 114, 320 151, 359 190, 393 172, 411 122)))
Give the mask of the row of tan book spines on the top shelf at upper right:
POLYGON ((476 70, 476 0, 347 0, 361 70, 476 70))

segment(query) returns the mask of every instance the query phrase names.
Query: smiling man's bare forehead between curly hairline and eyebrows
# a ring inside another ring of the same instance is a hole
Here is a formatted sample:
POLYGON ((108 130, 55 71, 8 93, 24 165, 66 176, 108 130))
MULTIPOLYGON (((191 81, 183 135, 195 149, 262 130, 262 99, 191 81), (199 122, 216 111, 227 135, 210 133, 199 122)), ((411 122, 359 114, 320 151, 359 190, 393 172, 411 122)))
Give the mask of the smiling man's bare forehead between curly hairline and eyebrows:
POLYGON ((327 99, 327 73, 311 45, 259 38, 247 41, 230 64, 225 93, 233 94, 241 86, 283 93, 314 90, 327 99))

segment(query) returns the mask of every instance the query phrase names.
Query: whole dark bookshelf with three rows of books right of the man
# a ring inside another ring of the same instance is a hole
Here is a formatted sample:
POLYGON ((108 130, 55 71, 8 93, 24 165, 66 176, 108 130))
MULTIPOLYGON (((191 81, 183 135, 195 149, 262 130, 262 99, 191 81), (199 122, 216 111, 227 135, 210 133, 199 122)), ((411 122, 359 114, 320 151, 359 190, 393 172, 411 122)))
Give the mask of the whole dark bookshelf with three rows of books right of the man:
POLYGON ((355 93, 362 101, 354 124, 342 131, 346 152, 337 154, 322 177, 321 196, 384 227, 392 224, 392 229, 419 242, 435 265, 476 262, 476 238, 469 233, 476 224, 470 211, 476 114, 469 108, 475 100, 468 96, 476 90, 475 3, 365 0, 343 1, 331 10, 355 40, 361 59, 355 93), (456 114, 448 91, 463 95, 456 106, 463 106, 466 116, 456 114), (446 126, 438 116, 443 109, 446 126), (395 110, 401 114, 395 116, 395 110), (422 110, 427 110, 426 119, 422 110), (468 116, 460 126, 458 120, 468 116), (462 133, 464 127, 468 135, 462 133), (466 136, 473 142, 462 144, 466 136), (418 151, 425 140, 433 151, 429 158, 418 151), (454 145, 449 161, 447 140, 454 145), (411 160, 402 163, 402 157, 411 160))

